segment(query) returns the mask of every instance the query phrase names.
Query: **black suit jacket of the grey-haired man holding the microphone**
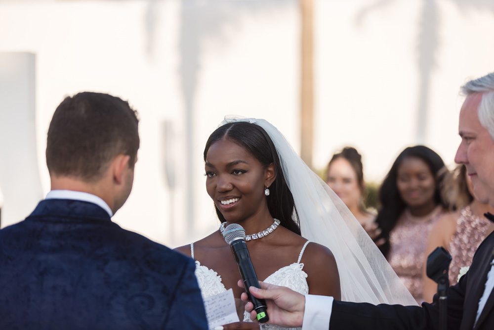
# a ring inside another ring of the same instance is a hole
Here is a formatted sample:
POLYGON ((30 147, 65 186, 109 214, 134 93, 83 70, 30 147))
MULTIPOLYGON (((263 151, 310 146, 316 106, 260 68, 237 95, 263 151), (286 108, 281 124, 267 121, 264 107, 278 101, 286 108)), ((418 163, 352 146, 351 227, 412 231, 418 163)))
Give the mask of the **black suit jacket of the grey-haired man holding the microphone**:
MULTIPOLYGON (((493 330, 494 291, 474 328, 479 300, 493 261, 494 233, 480 244, 468 272, 448 291, 449 330, 493 330)), ((338 329, 439 329, 438 296, 432 304, 401 306, 334 301, 330 330, 338 329)))

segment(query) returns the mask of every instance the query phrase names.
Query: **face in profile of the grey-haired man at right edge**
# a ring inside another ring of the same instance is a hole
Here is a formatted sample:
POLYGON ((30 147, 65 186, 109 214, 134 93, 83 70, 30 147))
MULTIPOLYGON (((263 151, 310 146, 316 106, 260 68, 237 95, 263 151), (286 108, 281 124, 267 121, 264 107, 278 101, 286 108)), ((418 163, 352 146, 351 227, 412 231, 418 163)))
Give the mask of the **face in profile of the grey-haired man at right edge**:
POLYGON ((458 133, 461 143, 454 161, 464 164, 477 199, 494 206, 494 141, 479 120, 481 93, 469 95, 460 110, 458 133))

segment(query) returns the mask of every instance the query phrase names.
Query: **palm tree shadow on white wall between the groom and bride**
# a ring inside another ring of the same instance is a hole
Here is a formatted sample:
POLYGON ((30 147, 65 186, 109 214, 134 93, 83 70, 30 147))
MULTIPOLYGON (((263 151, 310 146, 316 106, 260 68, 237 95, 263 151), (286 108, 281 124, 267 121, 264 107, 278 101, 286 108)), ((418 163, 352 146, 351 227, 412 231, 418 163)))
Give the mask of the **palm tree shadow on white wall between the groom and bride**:
MULTIPOLYGON (((193 141, 196 128, 195 98, 198 88, 198 77, 201 71, 202 53, 206 43, 214 43, 215 47, 227 50, 237 41, 232 31, 242 29, 244 16, 270 15, 275 10, 293 6, 297 0, 266 0, 266 1, 181 1, 180 8, 180 84, 184 101, 185 120, 185 173, 193 173, 193 141)), ((255 51, 255 50, 253 50, 255 51)), ((259 49, 259 51, 262 51, 259 49)), ((218 51, 219 53, 219 51, 218 51)), ((204 141, 206 143, 206 141, 204 141)), ((186 210, 187 226, 194 228, 194 201, 197 196, 194 189, 193 176, 185 177, 185 191, 188 193, 186 210)))

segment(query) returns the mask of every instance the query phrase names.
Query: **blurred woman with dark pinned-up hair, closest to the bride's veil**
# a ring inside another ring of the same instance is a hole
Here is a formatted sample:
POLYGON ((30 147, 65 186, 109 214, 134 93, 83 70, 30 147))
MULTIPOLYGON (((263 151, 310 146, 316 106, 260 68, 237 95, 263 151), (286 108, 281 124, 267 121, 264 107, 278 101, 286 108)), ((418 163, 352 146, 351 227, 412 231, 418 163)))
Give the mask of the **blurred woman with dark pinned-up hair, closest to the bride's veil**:
POLYGON ((326 170, 326 183, 364 228, 370 228, 375 214, 364 204, 366 184, 362 167, 362 156, 353 147, 344 147, 333 154, 326 170))

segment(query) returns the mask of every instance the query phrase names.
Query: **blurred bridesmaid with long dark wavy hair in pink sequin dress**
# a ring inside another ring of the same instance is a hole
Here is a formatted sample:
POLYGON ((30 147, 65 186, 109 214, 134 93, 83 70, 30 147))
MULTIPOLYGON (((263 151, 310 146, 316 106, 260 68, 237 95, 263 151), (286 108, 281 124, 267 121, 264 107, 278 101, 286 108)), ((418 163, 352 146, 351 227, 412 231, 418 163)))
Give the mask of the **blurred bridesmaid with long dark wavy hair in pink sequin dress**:
POLYGON ((441 195, 446 173, 436 152, 416 145, 400 153, 379 189, 376 222, 386 240, 379 248, 418 303, 426 240, 448 208, 441 195))

